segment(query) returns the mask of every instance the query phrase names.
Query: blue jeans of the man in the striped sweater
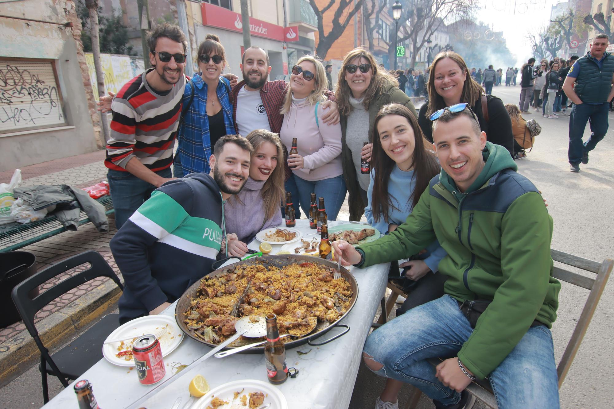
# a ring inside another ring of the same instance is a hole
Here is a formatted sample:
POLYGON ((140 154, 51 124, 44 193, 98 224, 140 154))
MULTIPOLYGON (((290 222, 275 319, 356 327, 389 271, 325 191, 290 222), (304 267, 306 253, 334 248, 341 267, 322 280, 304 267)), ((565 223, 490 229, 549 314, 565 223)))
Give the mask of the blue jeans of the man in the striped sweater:
MULTIPOLYGON (((157 171, 161 177, 173 177, 171 168, 157 171)), ((109 190, 113 199, 115 209, 115 225, 117 230, 125 224, 132 216, 134 211, 141 207, 144 201, 149 199, 153 190, 157 189, 154 185, 134 176, 130 172, 116 171, 109 169, 107 173, 109 179, 109 190)))

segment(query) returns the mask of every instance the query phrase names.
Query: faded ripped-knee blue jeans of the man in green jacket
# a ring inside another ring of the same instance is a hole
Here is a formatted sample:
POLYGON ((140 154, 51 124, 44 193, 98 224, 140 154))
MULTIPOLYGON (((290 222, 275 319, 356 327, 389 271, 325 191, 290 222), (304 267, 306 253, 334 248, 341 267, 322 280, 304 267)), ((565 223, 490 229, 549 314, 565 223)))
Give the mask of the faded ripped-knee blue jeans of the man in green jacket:
MULTIPOLYGON (((456 299, 444 295, 373 331, 363 351, 384 365, 377 375, 410 383, 441 405, 456 405, 461 394, 443 386, 427 359, 456 356, 472 331, 456 299)), ((530 327, 488 380, 500 408, 559 408, 548 327, 530 327)))

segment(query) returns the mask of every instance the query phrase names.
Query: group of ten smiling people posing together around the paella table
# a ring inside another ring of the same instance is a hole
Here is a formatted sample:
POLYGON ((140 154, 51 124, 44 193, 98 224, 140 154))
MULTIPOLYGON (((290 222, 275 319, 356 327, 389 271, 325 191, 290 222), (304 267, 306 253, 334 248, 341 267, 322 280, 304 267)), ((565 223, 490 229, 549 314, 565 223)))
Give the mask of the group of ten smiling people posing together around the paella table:
POLYGON ((487 376, 500 408, 559 407, 553 222, 516 173, 505 107, 484 98, 460 55, 435 57, 417 113, 362 47, 345 56, 333 94, 313 56, 297 61, 289 82, 268 81, 268 55, 251 47, 233 85, 221 76, 216 36, 200 45, 201 73, 190 79, 181 29, 160 25, 148 45, 152 68, 112 103, 103 98, 113 116, 106 165, 122 323, 163 311, 217 259, 245 255, 257 232, 281 224, 284 192, 297 218, 309 193, 324 197, 329 220, 347 192, 350 219, 364 212, 386 234, 356 248, 335 241, 335 257, 359 268, 408 260, 389 275, 409 297, 363 350, 388 378, 376 408, 398 408, 403 383, 437 408, 470 408, 465 388, 487 376), (298 154, 287 155, 292 138, 298 154), (435 368, 434 357, 445 360, 435 368))

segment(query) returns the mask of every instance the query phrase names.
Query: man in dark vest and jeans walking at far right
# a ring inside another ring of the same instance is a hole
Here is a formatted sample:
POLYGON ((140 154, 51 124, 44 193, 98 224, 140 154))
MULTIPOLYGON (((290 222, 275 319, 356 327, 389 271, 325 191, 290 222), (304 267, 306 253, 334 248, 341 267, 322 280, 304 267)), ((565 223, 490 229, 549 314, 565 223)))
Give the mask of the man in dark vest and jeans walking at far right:
POLYGON ((573 103, 567 153, 572 172, 580 171, 580 162, 588 163, 588 152, 604 139, 608 130, 608 101, 614 98, 614 56, 605 51, 608 36, 597 34, 589 47, 591 50, 573 63, 563 85, 573 103), (591 137, 582 143, 586 122, 591 125, 591 137))

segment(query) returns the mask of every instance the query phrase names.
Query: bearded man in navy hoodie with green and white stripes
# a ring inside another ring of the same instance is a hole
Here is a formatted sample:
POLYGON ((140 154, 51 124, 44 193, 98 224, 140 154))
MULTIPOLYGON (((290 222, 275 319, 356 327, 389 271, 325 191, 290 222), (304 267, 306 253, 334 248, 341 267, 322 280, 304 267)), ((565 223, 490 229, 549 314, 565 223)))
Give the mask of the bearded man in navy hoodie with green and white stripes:
POLYGON ((166 182, 119 229, 110 246, 125 281, 120 324, 159 314, 211 272, 225 236, 223 206, 243 189, 252 145, 239 135, 216 142, 213 177, 166 182))

